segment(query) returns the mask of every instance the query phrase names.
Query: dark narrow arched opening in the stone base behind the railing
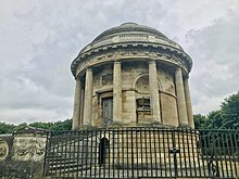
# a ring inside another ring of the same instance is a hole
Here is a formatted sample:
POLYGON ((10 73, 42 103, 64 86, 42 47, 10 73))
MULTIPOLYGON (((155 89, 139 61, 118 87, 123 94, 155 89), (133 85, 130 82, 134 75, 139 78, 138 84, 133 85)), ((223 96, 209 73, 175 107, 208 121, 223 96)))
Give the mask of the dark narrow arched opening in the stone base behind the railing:
POLYGON ((109 140, 104 137, 100 140, 99 144, 99 165, 102 166, 105 164, 105 159, 109 153, 109 148, 110 148, 110 142, 109 140))

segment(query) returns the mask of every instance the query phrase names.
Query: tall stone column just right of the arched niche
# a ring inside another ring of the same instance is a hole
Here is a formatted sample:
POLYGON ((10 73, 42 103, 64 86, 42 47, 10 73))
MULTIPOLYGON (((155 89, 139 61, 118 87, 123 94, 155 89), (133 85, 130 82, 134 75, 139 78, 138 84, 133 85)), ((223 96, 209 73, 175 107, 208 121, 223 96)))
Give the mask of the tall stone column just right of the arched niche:
POLYGON ((161 108, 160 108, 155 61, 149 61, 149 87, 150 87, 150 106, 151 106, 152 122, 155 124, 160 124, 162 123, 162 120, 161 120, 161 108))

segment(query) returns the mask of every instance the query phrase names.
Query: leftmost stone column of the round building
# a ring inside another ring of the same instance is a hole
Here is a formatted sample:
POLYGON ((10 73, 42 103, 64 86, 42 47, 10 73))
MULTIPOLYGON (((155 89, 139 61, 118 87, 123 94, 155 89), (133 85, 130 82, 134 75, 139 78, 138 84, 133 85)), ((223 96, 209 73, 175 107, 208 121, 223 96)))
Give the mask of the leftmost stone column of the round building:
POLYGON ((80 80, 76 78, 75 86, 75 99, 74 99, 74 111, 73 111, 73 124, 72 129, 76 130, 80 127, 80 104, 81 104, 81 90, 80 90, 80 80))

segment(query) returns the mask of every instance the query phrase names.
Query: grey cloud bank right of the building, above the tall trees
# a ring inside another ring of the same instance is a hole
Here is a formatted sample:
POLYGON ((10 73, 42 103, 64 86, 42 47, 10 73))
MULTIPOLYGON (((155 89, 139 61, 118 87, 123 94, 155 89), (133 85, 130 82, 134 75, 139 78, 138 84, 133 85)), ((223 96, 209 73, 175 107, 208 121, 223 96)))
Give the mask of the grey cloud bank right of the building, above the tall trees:
MULTIPOLYGON (((239 90, 239 14, 230 12, 200 30, 191 30, 187 38, 191 46, 189 52, 193 56, 194 67, 191 75, 191 91, 196 105, 219 103, 230 93, 239 90), (196 95, 197 94, 197 95, 196 95), (204 98, 204 99, 202 99, 204 98)), ((206 113, 215 105, 198 112, 206 113)), ((217 107, 218 108, 218 107, 217 107)))

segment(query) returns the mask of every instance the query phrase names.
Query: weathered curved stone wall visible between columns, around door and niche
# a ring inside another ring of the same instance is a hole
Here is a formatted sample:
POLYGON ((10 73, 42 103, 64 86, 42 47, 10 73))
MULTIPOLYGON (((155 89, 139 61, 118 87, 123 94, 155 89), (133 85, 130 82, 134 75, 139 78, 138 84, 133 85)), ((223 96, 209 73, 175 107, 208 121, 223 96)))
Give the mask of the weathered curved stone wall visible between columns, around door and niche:
MULTIPOLYGON (((93 69, 92 126, 103 127, 102 100, 113 98, 113 64, 93 69)), ((178 126, 174 74, 158 66, 159 100, 162 123, 178 126)), ((150 99, 149 67, 147 61, 122 63, 122 124, 140 126, 152 123, 150 106, 138 106, 138 99, 150 99)))

